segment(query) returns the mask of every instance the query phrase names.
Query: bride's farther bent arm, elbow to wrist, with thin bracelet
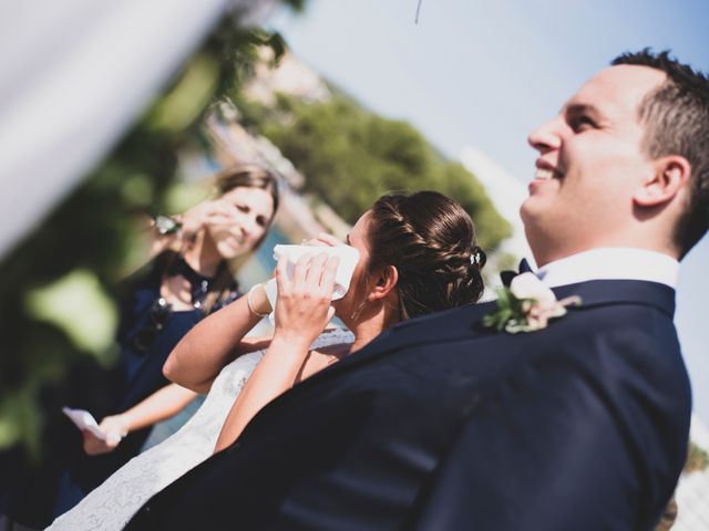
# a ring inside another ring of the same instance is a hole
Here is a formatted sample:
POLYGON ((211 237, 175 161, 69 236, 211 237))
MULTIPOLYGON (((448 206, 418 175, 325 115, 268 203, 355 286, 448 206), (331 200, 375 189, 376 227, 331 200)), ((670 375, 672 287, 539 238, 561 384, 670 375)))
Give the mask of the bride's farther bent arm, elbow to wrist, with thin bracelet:
POLYGON ((244 336, 270 309, 263 285, 197 323, 171 352, 163 374, 176 384, 197 393, 206 393, 212 382, 236 355, 265 347, 263 341, 244 336), (249 301, 251 308, 249 308, 249 301), (254 311, 253 311, 253 310, 254 311))

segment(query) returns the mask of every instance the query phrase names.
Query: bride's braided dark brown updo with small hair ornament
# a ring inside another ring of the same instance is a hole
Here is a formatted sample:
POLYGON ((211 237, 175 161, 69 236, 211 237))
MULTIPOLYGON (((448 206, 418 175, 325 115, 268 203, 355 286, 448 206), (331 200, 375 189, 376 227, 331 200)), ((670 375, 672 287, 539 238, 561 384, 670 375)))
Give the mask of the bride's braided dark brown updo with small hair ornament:
POLYGON ((370 219, 368 269, 397 268, 402 320, 477 302, 486 258, 458 201, 438 191, 382 196, 370 219))

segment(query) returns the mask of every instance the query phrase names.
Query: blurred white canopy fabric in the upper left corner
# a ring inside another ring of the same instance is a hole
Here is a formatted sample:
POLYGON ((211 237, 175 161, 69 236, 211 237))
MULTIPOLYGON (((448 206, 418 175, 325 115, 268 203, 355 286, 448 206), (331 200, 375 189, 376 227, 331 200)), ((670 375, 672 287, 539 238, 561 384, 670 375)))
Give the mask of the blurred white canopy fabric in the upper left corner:
POLYGON ((264 3, 0 0, 0 259, 105 156, 227 7, 263 13, 264 3))

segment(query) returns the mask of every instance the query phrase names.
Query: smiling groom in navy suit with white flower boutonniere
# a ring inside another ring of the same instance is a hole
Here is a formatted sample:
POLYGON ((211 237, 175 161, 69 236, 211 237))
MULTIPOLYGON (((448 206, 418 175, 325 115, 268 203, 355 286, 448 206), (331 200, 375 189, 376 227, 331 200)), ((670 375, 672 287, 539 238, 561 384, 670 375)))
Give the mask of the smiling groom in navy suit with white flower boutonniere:
POLYGON ((624 55, 530 136, 542 282, 578 306, 404 322, 266 406, 127 529, 650 530, 682 468, 678 260, 709 212, 709 83, 624 55))

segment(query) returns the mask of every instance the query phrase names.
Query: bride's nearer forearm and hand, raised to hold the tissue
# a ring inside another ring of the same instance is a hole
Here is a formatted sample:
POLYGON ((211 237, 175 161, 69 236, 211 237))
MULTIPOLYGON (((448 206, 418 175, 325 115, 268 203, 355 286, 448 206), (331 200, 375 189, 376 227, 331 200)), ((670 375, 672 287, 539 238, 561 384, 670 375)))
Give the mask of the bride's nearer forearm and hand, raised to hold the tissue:
POLYGON ((330 300, 338 259, 321 253, 298 260, 292 280, 285 261, 276 268, 278 303, 276 332, 263 360, 234 402, 217 439, 215 451, 229 446, 254 416, 269 402, 292 387, 308 350, 332 316, 330 300))

